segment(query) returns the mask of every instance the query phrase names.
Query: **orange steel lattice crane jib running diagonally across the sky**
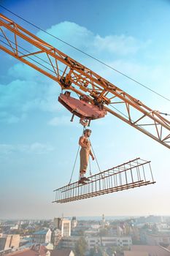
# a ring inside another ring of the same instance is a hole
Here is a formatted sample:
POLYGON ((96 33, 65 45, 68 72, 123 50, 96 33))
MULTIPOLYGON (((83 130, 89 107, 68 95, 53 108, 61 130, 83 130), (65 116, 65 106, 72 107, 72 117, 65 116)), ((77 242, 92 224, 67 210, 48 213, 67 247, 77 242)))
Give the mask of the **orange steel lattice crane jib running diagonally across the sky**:
POLYGON ((55 80, 62 89, 88 95, 90 103, 170 148, 170 121, 88 67, 0 14, 0 49, 55 80), (31 50, 27 50, 27 49, 31 50))

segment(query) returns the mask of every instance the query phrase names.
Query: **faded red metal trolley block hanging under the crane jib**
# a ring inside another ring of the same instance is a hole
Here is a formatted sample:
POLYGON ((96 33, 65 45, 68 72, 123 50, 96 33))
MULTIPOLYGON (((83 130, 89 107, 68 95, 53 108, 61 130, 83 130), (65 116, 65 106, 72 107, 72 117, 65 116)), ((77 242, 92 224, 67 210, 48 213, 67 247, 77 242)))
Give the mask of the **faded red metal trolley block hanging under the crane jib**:
POLYGON ((90 104, 86 98, 84 100, 84 97, 81 99, 71 97, 69 91, 66 91, 64 94, 60 94, 58 102, 60 102, 74 115, 88 120, 102 118, 107 114, 106 110, 100 109, 97 105, 90 104))

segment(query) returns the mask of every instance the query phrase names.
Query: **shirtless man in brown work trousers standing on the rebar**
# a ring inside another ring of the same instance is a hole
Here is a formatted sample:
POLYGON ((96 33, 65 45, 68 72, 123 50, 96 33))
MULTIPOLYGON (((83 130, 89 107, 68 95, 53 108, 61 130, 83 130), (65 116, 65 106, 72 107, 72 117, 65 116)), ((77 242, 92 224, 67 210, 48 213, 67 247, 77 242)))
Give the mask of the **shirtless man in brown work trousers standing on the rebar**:
POLYGON ((89 179, 85 177, 85 173, 88 167, 89 155, 94 160, 93 154, 90 150, 90 140, 88 140, 90 134, 91 130, 85 129, 83 135, 79 139, 79 145, 82 147, 80 149, 80 182, 89 181, 89 179))

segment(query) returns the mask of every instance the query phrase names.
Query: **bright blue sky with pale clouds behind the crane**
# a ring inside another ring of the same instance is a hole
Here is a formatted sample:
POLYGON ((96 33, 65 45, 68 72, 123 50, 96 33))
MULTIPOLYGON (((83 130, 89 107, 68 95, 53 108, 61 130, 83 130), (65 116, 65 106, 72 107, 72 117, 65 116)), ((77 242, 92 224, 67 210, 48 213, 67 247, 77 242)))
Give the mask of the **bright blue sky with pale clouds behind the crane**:
MULTIPOLYGON (((170 2, 0 1, 4 7, 170 98, 170 2)), ((35 29, 0 7, 55 48, 98 72, 146 105, 170 113, 165 99, 35 29)), ((0 51, 0 219, 170 214, 169 149, 108 115, 91 124, 101 169, 141 157, 152 161, 153 186, 66 205, 53 189, 69 182, 82 127, 59 102, 50 78, 0 51), (102 208, 101 208, 102 205, 102 208)), ((77 180, 79 162, 74 170, 77 180)), ((93 164, 93 173, 97 167, 93 164)))

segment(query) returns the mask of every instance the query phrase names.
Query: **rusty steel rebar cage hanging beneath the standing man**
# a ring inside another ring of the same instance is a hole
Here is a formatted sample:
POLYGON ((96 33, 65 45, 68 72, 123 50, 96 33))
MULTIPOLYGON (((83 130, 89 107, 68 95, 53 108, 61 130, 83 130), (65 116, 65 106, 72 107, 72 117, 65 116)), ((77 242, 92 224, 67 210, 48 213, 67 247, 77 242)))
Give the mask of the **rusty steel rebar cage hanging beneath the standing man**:
POLYGON ((86 184, 74 182, 55 189, 53 203, 68 203, 125 189, 154 184, 150 161, 136 158, 88 177, 86 184))

